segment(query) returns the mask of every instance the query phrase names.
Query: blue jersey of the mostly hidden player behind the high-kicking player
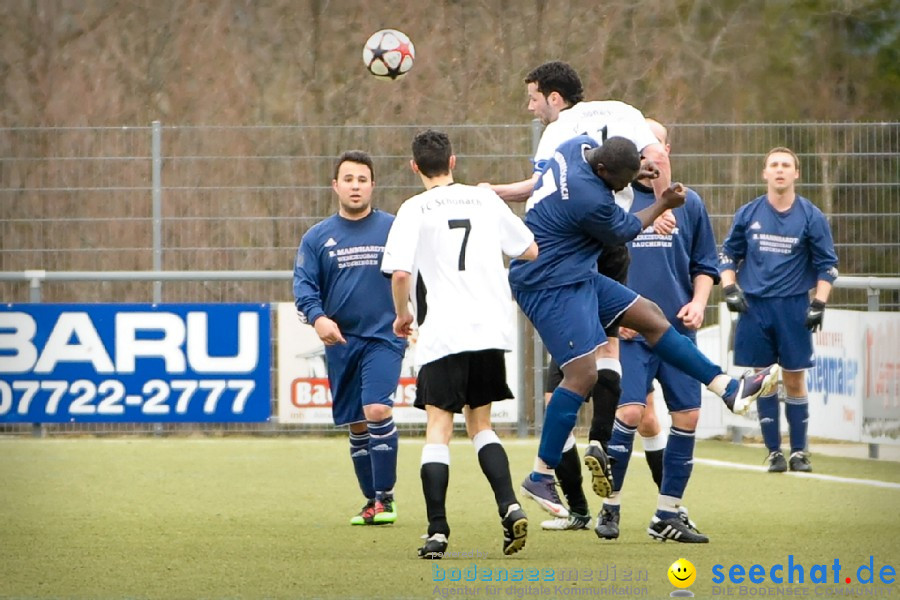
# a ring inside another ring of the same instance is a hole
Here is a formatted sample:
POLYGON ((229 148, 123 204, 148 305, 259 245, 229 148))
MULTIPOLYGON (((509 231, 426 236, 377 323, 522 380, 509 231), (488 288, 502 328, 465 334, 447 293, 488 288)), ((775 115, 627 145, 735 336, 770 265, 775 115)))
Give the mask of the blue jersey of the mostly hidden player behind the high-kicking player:
MULTIPOLYGON (((640 183, 632 187, 632 213, 655 202, 653 189, 640 183)), ((671 234, 656 233, 650 226, 628 243, 628 287, 658 304, 678 331, 693 336, 676 315, 693 299, 697 275, 709 275, 718 282, 716 239, 706 207, 694 190, 687 190, 684 205, 672 213, 676 226, 671 234)))

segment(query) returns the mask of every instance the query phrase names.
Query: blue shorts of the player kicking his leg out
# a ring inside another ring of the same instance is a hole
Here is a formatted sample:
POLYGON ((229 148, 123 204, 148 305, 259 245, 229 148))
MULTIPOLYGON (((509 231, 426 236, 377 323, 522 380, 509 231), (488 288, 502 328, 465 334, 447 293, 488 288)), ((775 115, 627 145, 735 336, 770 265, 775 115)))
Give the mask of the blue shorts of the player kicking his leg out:
POLYGON ((636 293, 599 273, 571 285, 513 294, 560 367, 606 343, 603 330, 638 299, 636 293))

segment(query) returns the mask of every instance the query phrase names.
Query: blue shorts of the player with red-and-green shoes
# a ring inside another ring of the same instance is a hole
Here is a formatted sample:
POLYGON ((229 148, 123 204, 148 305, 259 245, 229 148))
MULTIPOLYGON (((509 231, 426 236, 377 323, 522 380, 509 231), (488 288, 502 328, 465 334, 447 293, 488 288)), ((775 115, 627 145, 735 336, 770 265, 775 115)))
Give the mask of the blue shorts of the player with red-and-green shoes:
POLYGON ((346 344, 325 346, 335 425, 366 420, 363 406, 394 405, 403 352, 375 338, 344 336, 346 344))

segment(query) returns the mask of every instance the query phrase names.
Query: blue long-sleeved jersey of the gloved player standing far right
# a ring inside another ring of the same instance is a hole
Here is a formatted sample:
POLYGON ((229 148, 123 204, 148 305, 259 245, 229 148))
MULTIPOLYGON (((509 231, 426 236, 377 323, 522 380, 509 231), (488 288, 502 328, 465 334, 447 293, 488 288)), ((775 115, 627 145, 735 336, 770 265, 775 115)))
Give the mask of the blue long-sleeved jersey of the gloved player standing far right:
POLYGON ((735 214, 719 270, 736 270, 744 293, 765 298, 806 294, 817 281, 832 283, 837 255, 828 221, 802 196, 778 212, 762 195, 735 214))

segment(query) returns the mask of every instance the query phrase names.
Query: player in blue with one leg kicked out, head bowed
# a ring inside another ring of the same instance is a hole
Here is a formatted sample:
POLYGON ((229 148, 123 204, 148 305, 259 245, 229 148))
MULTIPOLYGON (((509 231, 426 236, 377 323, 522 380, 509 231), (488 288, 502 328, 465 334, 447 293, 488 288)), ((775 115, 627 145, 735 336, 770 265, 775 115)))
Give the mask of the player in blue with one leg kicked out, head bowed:
POLYGON ((578 409, 597 381, 594 352, 606 343, 603 327, 618 321, 637 330, 655 354, 704 383, 735 412, 746 411, 760 393, 771 391, 778 376, 777 365, 740 380, 725 375, 671 326, 656 304, 597 273, 603 244, 633 239, 665 210, 684 202, 683 186, 673 184, 647 208, 623 211, 613 193, 635 178, 639 166, 637 148, 624 138, 609 138, 602 146, 590 136, 564 142, 543 171, 525 215, 541 254, 533 262, 513 260, 510 265, 516 301, 563 372, 547 405, 534 470, 522 484, 523 493, 554 516, 568 512, 556 492, 553 470, 578 409))

